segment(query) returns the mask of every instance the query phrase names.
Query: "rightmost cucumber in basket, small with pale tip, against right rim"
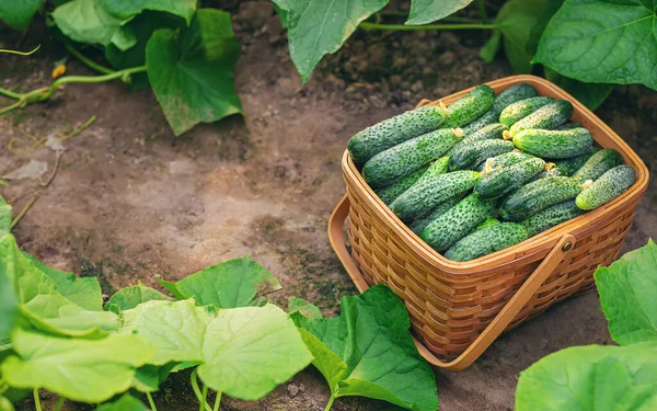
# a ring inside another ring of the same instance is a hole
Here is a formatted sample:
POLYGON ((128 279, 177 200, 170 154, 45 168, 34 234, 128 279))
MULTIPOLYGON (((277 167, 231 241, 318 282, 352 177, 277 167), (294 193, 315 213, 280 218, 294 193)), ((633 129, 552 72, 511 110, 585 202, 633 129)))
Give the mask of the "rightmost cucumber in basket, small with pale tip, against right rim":
POLYGON ((630 165, 614 167, 584 190, 575 203, 581 209, 596 209, 623 194, 634 184, 634 169, 630 165))

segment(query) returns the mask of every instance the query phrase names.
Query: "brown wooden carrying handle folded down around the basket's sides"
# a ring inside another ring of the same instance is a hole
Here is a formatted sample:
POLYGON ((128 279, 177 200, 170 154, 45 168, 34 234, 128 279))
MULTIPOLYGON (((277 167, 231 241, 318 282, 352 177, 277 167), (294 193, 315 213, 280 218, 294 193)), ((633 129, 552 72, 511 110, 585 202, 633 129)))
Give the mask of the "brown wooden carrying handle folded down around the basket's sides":
MULTIPOLYGON (((345 195, 338 203, 335 210, 331 215, 328 220, 328 240, 337 258, 343 263, 345 270, 356 284, 356 288, 360 293, 369 288, 369 285, 362 277, 362 274, 351 260, 351 255, 347 251, 345 244, 343 226, 349 215, 349 199, 345 195)), ((537 293, 539 287, 548 279, 548 277, 554 272, 558 264, 563 261, 564 255, 573 249, 575 246, 575 237, 570 235, 564 235, 554 246, 552 251, 545 256, 543 262, 534 270, 534 272, 527 278, 520 289, 509 299, 506 306, 499 311, 497 317, 491 321, 488 327, 477 336, 476 340, 456 359, 446 363, 440 358, 436 357, 423 343, 417 339, 415 345, 425 359, 433 365, 447 368, 451 370, 460 370, 472 363, 482 355, 482 353, 495 341, 499 334, 509 326, 509 323, 516 318, 518 312, 525 307, 530 298, 537 293), (568 243, 568 246, 565 246, 568 243)))

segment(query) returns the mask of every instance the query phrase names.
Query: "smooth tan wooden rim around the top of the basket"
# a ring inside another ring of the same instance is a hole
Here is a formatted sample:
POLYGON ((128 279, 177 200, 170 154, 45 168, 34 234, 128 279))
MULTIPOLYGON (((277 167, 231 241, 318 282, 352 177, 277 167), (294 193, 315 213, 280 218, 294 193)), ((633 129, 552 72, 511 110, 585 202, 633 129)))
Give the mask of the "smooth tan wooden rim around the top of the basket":
MULTIPOLYGON (((593 230, 599 224, 603 224, 607 218, 626 207, 627 204, 637 203, 647 189, 649 178, 648 169, 638 155, 636 155, 636 152, 634 152, 634 150, 600 117, 558 85, 543 78, 530 75, 505 77, 485 82, 485 84, 504 90, 520 82, 530 83, 532 85, 541 84, 543 88, 549 89, 551 92, 549 95, 570 101, 570 103, 573 103, 574 114, 578 113, 584 117, 587 117, 587 119, 596 124, 604 136, 612 141, 611 145, 607 144, 602 147, 616 149, 622 155, 625 163, 634 169, 636 181, 623 194, 595 210, 564 221, 558 226, 530 237, 516 246, 471 261, 457 262, 446 259, 411 231, 411 229, 402 222, 385 204, 383 204, 383 202, 374 194, 373 190, 365 182, 349 156, 348 150, 345 150, 342 167, 347 185, 350 185, 362 195, 373 213, 392 228, 400 236, 401 240, 415 251, 418 258, 439 267, 447 274, 458 275, 460 277, 463 275, 482 277, 488 275, 493 270, 499 270, 503 265, 516 264, 518 259, 532 258, 535 254, 546 254, 564 235, 570 233, 577 238, 581 237, 585 232, 593 230)), ((460 92, 445 96, 440 99, 440 101, 451 103, 473 89, 474 87, 464 89, 460 92)), ((430 102, 428 104, 439 104, 439 101, 430 102)), ((593 140, 600 144, 598 139, 601 137, 601 134, 591 134, 593 140)))

